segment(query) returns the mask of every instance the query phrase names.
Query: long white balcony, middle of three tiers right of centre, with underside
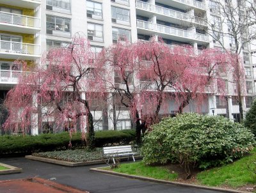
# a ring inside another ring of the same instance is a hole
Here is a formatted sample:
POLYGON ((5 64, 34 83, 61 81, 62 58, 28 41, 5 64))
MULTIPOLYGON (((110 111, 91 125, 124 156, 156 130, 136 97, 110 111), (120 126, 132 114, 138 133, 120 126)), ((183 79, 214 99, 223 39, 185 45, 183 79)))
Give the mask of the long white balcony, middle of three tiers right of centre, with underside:
POLYGON ((163 8, 161 6, 156 6, 154 4, 145 3, 143 1, 136 1, 136 8, 139 15, 145 15, 146 17, 150 17, 152 13, 159 14, 157 15, 157 19, 166 20, 168 22, 173 22, 175 24, 182 24, 189 26, 189 24, 194 23, 196 25, 207 26, 207 22, 200 18, 195 17, 194 15, 189 15, 182 12, 177 12, 175 10, 170 10, 168 8, 163 8))

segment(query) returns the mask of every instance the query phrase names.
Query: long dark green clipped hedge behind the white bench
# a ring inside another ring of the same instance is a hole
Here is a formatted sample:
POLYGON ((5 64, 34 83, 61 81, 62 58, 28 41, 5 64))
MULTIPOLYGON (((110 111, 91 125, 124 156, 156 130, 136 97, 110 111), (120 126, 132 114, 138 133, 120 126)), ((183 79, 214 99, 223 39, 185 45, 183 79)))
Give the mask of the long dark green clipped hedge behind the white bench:
MULTIPOLYGON (((129 144, 135 139, 135 130, 104 130, 95 132, 97 147, 129 144)), ((29 155, 33 152, 67 150, 70 136, 68 132, 40 135, 1 135, 0 155, 29 155)), ((84 148, 81 133, 72 134, 72 149, 84 148)))

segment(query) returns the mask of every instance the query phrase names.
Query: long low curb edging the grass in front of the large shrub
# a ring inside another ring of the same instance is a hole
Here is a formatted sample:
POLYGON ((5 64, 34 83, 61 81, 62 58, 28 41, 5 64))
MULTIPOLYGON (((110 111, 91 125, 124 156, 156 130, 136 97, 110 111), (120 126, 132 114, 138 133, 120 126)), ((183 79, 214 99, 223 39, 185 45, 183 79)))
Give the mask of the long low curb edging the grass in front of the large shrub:
POLYGON ((95 172, 100 172, 100 173, 105 173, 105 174, 111 174, 111 175, 115 175, 115 176, 122 176, 122 177, 126 177, 126 178, 138 179, 138 180, 153 181, 153 182, 156 182, 156 183, 166 183, 166 184, 171 184, 171 185, 179 185, 179 186, 183 186, 183 187, 191 187, 191 188, 195 188, 195 189, 215 190, 215 191, 230 192, 230 193, 248 193, 248 192, 244 192, 244 191, 241 191, 241 190, 207 187, 207 186, 204 186, 204 185, 195 185, 195 184, 182 183, 182 182, 177 182, 177 181, 157 180, 157 179, 154 179, 154 178, 148 178, 148 177, 143 177, 143 176, 135 176, 135 175, 117 173, 115 171, 107 171, 107 170, 103 170, 101 168, 103 168, 103 167, 90 168, 90 171, 95 171, 95 172))

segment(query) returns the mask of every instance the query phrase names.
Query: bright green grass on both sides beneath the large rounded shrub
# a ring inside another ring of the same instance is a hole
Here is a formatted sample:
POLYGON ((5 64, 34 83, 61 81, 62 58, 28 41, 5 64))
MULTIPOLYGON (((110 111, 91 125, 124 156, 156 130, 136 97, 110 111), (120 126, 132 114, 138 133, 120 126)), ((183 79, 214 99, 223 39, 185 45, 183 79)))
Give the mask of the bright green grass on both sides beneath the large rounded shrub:
MULTIPOLYGON (((197 173, 194 183, 212 187, 252 187, 256 184, 256 174, 253 174, 248 170, 247 163, 252 164, 253 162, 256 162, 256 148, 251 152, 251 155, 247 155, 227 166, 215 167, 197 173)), ((107 169, 110 170, 110 168, 107 169)), ((166 167, 146 166, 143 162, 134 162, 130 164, 121 163, 120 167, 113 169, 113 171, 161 180, 180 181, 180 179, 177 179, 179 176, 178 173, 172 173, 166 167)), ((182 182, 186 182, 186 180, 182 180, 182 182)), ((189 180, 188 183, 190 183, 189 180)))

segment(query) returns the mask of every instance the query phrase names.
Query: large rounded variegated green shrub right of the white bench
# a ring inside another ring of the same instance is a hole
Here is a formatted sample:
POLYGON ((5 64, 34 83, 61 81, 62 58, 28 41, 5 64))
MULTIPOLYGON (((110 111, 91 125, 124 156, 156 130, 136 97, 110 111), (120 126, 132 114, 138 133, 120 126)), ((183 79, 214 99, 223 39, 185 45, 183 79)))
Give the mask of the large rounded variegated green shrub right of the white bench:
POLYGON ((206 169, 232 162, 252 150, 253 134, 222 116, 179 114, 152 126, 143 138, 141 153, 146 164, 179 162, 206 169))

